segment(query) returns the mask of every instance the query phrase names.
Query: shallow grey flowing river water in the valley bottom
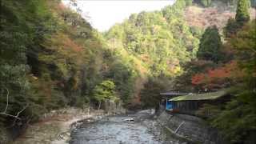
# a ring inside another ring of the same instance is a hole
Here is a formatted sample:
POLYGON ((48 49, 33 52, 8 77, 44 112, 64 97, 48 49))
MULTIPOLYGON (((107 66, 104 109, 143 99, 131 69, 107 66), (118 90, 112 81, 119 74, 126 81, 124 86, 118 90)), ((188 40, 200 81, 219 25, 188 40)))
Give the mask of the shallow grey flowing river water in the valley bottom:
POLYGON ((188 144, 172 137, 151 117, 137 113, 89 119, 72 131, 70 144, 188 144))

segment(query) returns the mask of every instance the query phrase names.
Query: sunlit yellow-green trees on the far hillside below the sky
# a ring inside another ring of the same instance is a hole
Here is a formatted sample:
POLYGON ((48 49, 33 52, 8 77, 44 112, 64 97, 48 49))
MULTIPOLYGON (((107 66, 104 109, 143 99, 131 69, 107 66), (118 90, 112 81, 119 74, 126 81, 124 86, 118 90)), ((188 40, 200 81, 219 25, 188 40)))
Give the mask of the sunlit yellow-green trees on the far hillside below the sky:
POLYGON ((110 47, 125 49, 142 61, 150 75, 180 74, 180 64, 193 58, 198 50, 198 38, 182 18, 186 4, 178 0, 161 11, 132 14, 113 26, 105 34, 106 39, 110 47))

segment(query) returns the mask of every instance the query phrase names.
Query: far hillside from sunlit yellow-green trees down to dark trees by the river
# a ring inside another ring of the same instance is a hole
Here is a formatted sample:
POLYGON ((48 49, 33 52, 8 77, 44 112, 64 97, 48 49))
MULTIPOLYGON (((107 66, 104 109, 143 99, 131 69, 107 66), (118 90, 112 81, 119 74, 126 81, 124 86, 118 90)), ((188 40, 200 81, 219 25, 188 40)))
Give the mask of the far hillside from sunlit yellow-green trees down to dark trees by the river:
POLYGON ((182 74, 181 65, 195 58, 202 29, 186 23, 184 12, 189 5, 189 1, 177 1, 160 11, 131 14, 104 34, 111 50, 122 51, 123 57, 140 64, 135 69, 143 77, 136 83, 134 104, 158 106, 160 90, 170 89, 173 78, 182 74), (155 97, 149 99, 149 95, 155 97))

